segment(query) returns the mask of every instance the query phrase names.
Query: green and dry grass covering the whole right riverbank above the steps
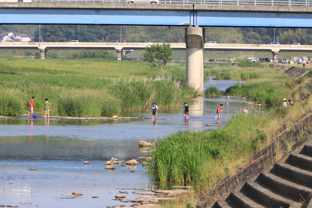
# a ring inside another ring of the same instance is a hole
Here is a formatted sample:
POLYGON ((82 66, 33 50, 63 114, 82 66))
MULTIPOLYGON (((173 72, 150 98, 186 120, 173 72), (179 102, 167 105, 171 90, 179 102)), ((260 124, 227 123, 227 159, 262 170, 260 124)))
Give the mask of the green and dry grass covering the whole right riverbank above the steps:
MULTIPOLYGON (((272 112, 258 114, 238 114, 227 121, 225 128, 208 131, 177 132, 163 138, 150 151, 152 162, 151 176, 162 183, 187 183, 194 189, 188 196, 181 196, 177 201, 165 202, 165 207, 196 207, 198 199, 218 186, 224 177, 231 177, 252 163, 252 155, 272 142, 272 138, 281 129, 290 129, 291 125, 300 121, 301 116, 311 111, 312 98, 300 101, 299 94, 305 83, 311 81, 312 73, 301 80, 287 77, 284 71, 270 67, 236 68, 231 70, 238 74, 256 73, 246 84, 230 87, 227 91, 243 94, 263 88, 275 102, 272 112), (295 100, 293 107, 282 107, 281 100, 286 97, 295 100)), ((206 73, 232 73, 227 69, 215 66, 206 68, 206 73)), ((226 91, 226 92, 227 92, 226 91)), ((251 95, 257 95, 255 94, 251 95)), ((259 97, 254 97, 258 100, 259 97)), ((224 110, 224 109, 223 109, 224 110)), ((278 158, 275 158, 278 159, 278 158)), ((165 185, 164 185, 165 186, 165 185)))

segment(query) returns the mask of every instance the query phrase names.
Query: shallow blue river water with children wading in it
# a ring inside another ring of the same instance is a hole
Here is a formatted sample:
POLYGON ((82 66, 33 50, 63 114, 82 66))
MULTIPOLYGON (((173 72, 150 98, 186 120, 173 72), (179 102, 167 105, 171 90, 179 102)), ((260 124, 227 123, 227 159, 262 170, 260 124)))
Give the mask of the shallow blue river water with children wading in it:
MULTIPOLYGON (((242 81, 215 81, 219 89, 242 81)), ((106 207, 125 205, 115 195, 138 198, 133 191, 152 189, 147 169, 139 164, 130 170, 117 165, 105 170, 104 163, 115 157, 131 160, 147 156, 139 150, 139 141, 158 141, 176 131, 216 129, 226 124, 241 97, 188 99, 190 115, 183 119, 184 108, 159 109, 157 122, 151 119, 105 122, 50 121, 38 117, 0 120, 0 205, 23 207, 106 207), (229 102, 229 105, 225 105, 229 102), (223 104, 221 119, 214 117, 223 104), (212 126, 206 126, 211 123, 212 126), (85 166, 84 161, 91 164, 85 166), (37 169, 30 171, 30 168, 37 169), (13 184, 9 184, 13 183, 13 184), (129 194, 120 194, 128 191, 129 194), (79 192, 83 196, 61 194, 79 192), (92 198, 97 196, 99 198, 92 198)), ((151 117, 151 110, 124 112, 122 116, 151 117)))

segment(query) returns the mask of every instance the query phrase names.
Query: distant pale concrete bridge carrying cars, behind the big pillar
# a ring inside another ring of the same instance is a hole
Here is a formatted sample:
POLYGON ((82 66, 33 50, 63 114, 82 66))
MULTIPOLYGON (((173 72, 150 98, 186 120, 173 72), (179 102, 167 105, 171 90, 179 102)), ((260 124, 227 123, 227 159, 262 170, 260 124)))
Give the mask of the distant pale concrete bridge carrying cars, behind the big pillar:
MULTIPOLYGON (((39 49, 41 59, 46 58, 47 50, 51 49, 71 49, 71 50, 116 50, 117 60, 121 60, 121 53, 126 50, 145 50, 150 44, 163 43, 141 43, 141 42, 79 42, 71 45, 68 42, 1 42, 0 49, 39 49)), ((173 50, 186 50, 185 43, 169 43, 173 50)), ((273 59, 277 59, 279 52, 312 52, 312 45, 280 45, 272 47, 271 44, 231 44, 218 43, 216 46, 204 45, 204 51, 261 51, 272 52, 273 59)))

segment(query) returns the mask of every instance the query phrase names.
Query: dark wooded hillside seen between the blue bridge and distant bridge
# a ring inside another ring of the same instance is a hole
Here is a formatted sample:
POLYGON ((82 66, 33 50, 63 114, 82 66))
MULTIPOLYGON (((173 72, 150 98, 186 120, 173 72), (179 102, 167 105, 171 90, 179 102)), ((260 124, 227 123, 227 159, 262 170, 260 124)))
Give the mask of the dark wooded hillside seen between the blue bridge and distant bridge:
MULTIPOLYGON (((17 32, 33 37, 39 42, 185 42, 184 27, 160 26, 103 26, 103 25, 0 25, 0 33, 17 32)), ((251 27, 206 27, 205 42, 261 43, 274 41, 281 44, 312 44, 310 28, 251 28, 251 27)))

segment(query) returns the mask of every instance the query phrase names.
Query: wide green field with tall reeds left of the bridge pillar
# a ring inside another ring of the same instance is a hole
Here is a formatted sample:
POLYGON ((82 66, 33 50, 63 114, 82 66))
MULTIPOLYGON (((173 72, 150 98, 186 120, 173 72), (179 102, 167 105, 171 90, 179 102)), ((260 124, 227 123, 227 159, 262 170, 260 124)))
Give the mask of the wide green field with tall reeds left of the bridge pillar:
POLYGON ((150 69, 146 62, 112 59, 49 59, 7 57, 0 63, 0 115, 27 112, 51 102, 50 115, 99 117, 138 110, 156 102, 160 107, 182 105, 197 92, 185 84, 182 66, 150 69))

